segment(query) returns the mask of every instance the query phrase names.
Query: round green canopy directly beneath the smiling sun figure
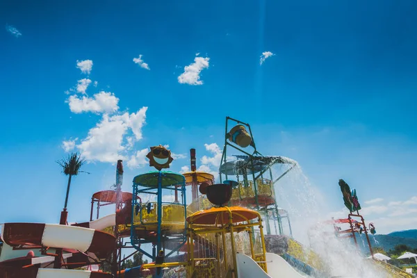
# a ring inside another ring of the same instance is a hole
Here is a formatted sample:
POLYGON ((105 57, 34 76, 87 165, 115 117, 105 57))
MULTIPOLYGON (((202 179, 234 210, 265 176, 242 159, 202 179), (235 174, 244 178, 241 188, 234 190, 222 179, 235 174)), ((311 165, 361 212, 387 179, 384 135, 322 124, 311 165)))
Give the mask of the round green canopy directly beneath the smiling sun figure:
MULTIPOLYGON (((162 174, 162 186, 174 186, 184 183, 185 178, 182 174, 177 174, 170 171, 161 172, 162 174)), ((158 171, 147 172, 146 174, 140 174, 133 178, 133 184, 144 187, 158 187, 158 171)))

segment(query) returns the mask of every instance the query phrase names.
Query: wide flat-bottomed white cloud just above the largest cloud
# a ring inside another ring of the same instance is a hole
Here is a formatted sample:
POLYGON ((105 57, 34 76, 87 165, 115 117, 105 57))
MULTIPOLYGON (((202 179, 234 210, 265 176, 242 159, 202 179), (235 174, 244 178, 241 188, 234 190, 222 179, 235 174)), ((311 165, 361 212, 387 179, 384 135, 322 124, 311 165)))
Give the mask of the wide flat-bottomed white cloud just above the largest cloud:
POLYGON ((72 95, 66 102, 72 113, 112 113, 119 109, 119 99, 112 92, 101 91, 92 97, 82 98, 72 95))

